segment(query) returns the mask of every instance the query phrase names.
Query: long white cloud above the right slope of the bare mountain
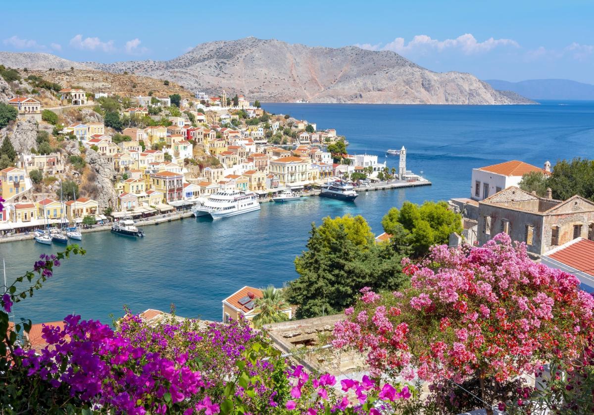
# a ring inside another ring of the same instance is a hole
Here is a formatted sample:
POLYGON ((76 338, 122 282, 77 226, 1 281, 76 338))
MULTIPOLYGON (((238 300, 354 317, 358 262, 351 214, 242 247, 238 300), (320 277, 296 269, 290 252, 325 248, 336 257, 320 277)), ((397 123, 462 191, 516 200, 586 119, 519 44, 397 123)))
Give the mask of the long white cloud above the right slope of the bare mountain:
POLYGON ((378 44, 356 44, 362 49, 369 50, 391 50, 397 53, 427 53, 429 51, 443 52, 447 49, 460 50, 466 55, 473 55, 474 53, 488 52, 495 49, 495 47, 520 47, 517 41, 512 39, 494 39, 493 37, 479 42, 470 33, 465 33, 458 36, 456 39, 438 40, 432 39, 426 34, 419 34, 413 37, 408 43, 403 37, 397 37, 390 43, 381 46, 378 44))

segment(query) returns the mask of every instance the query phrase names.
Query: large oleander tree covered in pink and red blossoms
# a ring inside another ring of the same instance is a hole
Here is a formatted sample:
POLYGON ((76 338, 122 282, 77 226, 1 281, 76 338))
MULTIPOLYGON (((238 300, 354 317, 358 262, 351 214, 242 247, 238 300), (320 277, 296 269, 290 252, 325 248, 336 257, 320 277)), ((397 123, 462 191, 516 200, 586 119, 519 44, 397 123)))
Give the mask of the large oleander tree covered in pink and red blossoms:
POLYGON ((491 414, 509 405, 497 394, 505 382, 535 376, 551 357, 576 359, 592 336, 594 300, 579 280, 534 263, 505 234, 480 248, 436 246, 405 265, 409 289, 362 290, 334 328, 334 346, 364 353, 378 378, 478 379, 491 414))

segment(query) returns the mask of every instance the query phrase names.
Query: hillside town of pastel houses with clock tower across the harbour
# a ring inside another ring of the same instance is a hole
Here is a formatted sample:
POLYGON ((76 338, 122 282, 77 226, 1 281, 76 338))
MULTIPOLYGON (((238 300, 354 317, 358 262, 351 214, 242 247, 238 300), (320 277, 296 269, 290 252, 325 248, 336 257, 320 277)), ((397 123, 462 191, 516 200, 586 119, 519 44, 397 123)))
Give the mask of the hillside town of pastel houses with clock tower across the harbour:
POLYGON ((389 170, 377 155, 347 154, 335 129, 267 113, 244 95, 121 97, 39 75, 4 84, 15 119, 0 150, 2 235, 150 218, 221 190, 251 191, 261 202, 331 180, 422 180, 406 170, 405 151, 389 170))

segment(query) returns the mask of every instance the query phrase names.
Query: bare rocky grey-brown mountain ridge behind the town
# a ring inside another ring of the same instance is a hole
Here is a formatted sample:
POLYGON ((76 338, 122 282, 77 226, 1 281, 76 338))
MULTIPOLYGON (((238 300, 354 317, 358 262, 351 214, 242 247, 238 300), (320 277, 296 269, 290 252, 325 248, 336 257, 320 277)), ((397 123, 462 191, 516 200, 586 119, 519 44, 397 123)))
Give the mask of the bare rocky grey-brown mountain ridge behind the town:
MULTIPOLYGON (((533 104, 462 72, 432 72, 394 52, 309 47, 254 37, 198 44, 171 60, 73 62, 47 53, 0 52, 12 68, 94 69, 168 79, 191 91, 226 90, 267 102, 533 104)), ((507 88, 504 88, 507 89, 507 88)))

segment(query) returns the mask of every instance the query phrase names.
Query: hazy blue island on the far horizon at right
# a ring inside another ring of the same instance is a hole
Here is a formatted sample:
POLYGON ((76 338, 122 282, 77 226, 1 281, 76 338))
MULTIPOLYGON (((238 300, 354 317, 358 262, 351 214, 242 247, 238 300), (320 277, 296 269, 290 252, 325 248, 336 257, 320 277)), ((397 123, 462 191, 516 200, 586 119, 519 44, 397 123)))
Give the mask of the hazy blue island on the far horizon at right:
POLYGON ((532 100, 594 100, 594 85, 570 79, 528 79, 508 82, 488 79, 495 90, 513 91, 532 100))

